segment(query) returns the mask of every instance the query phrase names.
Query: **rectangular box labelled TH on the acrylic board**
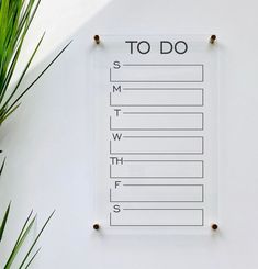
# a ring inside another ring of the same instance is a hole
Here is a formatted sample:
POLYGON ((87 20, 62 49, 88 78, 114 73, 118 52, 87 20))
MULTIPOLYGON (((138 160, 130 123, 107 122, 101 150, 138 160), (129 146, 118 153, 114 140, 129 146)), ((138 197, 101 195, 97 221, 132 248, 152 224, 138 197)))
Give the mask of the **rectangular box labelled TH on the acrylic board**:
POLYGON ((110 178, 203 178, 203 160, 120 160, 110 165, 110 178))

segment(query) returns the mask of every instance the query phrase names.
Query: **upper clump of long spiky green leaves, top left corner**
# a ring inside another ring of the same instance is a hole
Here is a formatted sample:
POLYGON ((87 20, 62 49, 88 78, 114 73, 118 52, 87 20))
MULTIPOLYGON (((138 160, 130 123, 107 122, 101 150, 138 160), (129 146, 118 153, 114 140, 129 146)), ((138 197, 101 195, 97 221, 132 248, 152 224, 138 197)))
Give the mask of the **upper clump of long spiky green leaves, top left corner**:
POLYGON ((55 63, 55 60, 68 47, 67 44, 51 61, 49 65, 36 77, 36 79, 20 91, 27 70, 34 59, 44 37, 41 37, 35 46, 29 61, 25 65, 18 82, 13 89, 10 83, 15 71, 16 63, 20 58, 21 49, 26 33, 38 9, 41 0, 0 0, 0 124, 3 123, 20 105, 22 97, 32 88, 32 86, 43 76, 43 74, 55 63))

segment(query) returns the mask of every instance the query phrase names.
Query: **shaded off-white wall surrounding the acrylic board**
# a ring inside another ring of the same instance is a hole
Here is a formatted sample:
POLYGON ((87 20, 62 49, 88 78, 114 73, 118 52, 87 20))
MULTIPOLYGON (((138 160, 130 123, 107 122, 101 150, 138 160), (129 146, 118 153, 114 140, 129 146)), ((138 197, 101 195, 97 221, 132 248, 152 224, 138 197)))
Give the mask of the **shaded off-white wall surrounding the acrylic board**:
MULTIPOLYGON (((74 8, 78 9, 70 2, 67 12, 74 8)), ((53 11, 51 7, 46 11, 48 21, 53 11)), ((9 239, 15 237, 31 208, 40 213, 40 223, 57 210, 42 237, 43 249, 34 268, 257 269, 256 25, 257 2, 251 0, 115 0, 85 24, 69 51, 1 132, 8 156, 1 201, 3 205, 10 198, 13 201, 9 239), (91 229, 92 115, 87 58, 96 33, 217 35, 222 51, 220 233, 105 236, 91 229)), ((45 64, 43 60, 31 78, 45 64)), ((5 240, 5 249, 10 249, 10 240, 5 240)))

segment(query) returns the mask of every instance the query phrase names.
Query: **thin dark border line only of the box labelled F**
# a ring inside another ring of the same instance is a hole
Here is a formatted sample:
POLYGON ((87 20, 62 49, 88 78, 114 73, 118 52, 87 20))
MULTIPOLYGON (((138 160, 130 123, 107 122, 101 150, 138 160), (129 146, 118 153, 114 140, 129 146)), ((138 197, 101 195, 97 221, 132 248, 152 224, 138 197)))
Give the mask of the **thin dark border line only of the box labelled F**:
POLYGON ((172 187, 201 187, 201 200, 200 201, 147 201, 147 200, 142 200, 142 201, 136 201, 136 200, 132 200, 132 201, 114 201, 112 200, 112 189, 110 188, 110 202, 111 203, 203 203, 204 200, 204 195, 203 195, 203 184, 123 184, 124 187, 167 187, 167 186, 172 186, 172 187))

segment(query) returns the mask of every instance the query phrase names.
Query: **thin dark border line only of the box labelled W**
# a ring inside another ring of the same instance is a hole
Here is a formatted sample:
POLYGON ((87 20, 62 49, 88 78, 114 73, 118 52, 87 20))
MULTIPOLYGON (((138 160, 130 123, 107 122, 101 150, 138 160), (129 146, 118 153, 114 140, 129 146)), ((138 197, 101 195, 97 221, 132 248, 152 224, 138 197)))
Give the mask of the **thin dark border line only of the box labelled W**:
POLYGON ((114 153, 112 152, 112 139, 110 139, 110 155, 203 155, 204 137, 203 136, 122 136, 123 138, 201 138, 202 150, 198 153, 114 153))

